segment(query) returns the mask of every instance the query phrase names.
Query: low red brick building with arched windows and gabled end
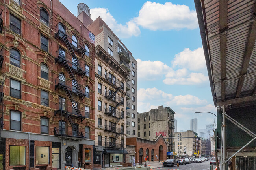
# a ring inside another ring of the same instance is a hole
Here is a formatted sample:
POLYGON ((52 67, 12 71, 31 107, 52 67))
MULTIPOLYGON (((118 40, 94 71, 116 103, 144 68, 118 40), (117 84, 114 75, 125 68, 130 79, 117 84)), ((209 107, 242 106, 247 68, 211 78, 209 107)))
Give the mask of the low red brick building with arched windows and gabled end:
MULTIPOLYGON (((162 135, 158 136, 155 141, 139 137, 127 138, 126 145, 135 146, 136 163, 142 164, 146 159, 147 161, 164 161, 167 159, 167 143, 162 135)), ((127 156, 129 155, 127 154, 127 156)))

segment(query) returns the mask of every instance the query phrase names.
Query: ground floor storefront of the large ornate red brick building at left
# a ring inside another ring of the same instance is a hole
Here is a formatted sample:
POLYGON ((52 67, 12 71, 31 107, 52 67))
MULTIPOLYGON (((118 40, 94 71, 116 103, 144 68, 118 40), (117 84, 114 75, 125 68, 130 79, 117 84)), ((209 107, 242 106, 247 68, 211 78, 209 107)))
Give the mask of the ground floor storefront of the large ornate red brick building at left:
POLYGON ((94 141, 1 130, 0 170, 46 170, 49 166, 93 168, 94 141))

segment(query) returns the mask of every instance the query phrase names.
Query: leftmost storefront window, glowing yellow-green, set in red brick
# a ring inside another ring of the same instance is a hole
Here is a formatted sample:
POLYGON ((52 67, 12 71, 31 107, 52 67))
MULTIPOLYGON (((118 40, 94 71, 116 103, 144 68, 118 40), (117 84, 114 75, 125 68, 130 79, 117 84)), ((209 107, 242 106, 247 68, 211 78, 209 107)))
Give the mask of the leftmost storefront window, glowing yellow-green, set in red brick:
POLYGON ((10 166, 26 165, 26 146, 10 146, 10 166))

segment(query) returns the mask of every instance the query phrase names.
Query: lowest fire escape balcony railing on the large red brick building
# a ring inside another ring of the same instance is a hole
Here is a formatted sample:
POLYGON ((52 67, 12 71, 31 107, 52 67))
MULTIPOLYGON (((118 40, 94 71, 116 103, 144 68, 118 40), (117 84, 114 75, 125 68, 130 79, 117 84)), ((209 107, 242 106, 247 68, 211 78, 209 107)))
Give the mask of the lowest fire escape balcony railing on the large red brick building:
POLYGON ((62 127, 55 127, 54 128, 54 135, 55 136, 69 136, 69 137, 80 137, 80 138, 85 138, 84 132, 77 132, 73 130, 72 127, 67 127, 67 128, 62 128, 62 127))

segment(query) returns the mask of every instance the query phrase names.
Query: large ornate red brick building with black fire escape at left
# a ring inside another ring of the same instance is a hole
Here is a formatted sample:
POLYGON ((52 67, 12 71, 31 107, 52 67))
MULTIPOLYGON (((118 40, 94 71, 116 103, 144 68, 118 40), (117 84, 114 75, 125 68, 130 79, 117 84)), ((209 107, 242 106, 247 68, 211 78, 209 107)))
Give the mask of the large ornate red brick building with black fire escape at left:
POLYGON ((92 167, 94 35, 58 0, 0 13, 0 170, 92 167))

